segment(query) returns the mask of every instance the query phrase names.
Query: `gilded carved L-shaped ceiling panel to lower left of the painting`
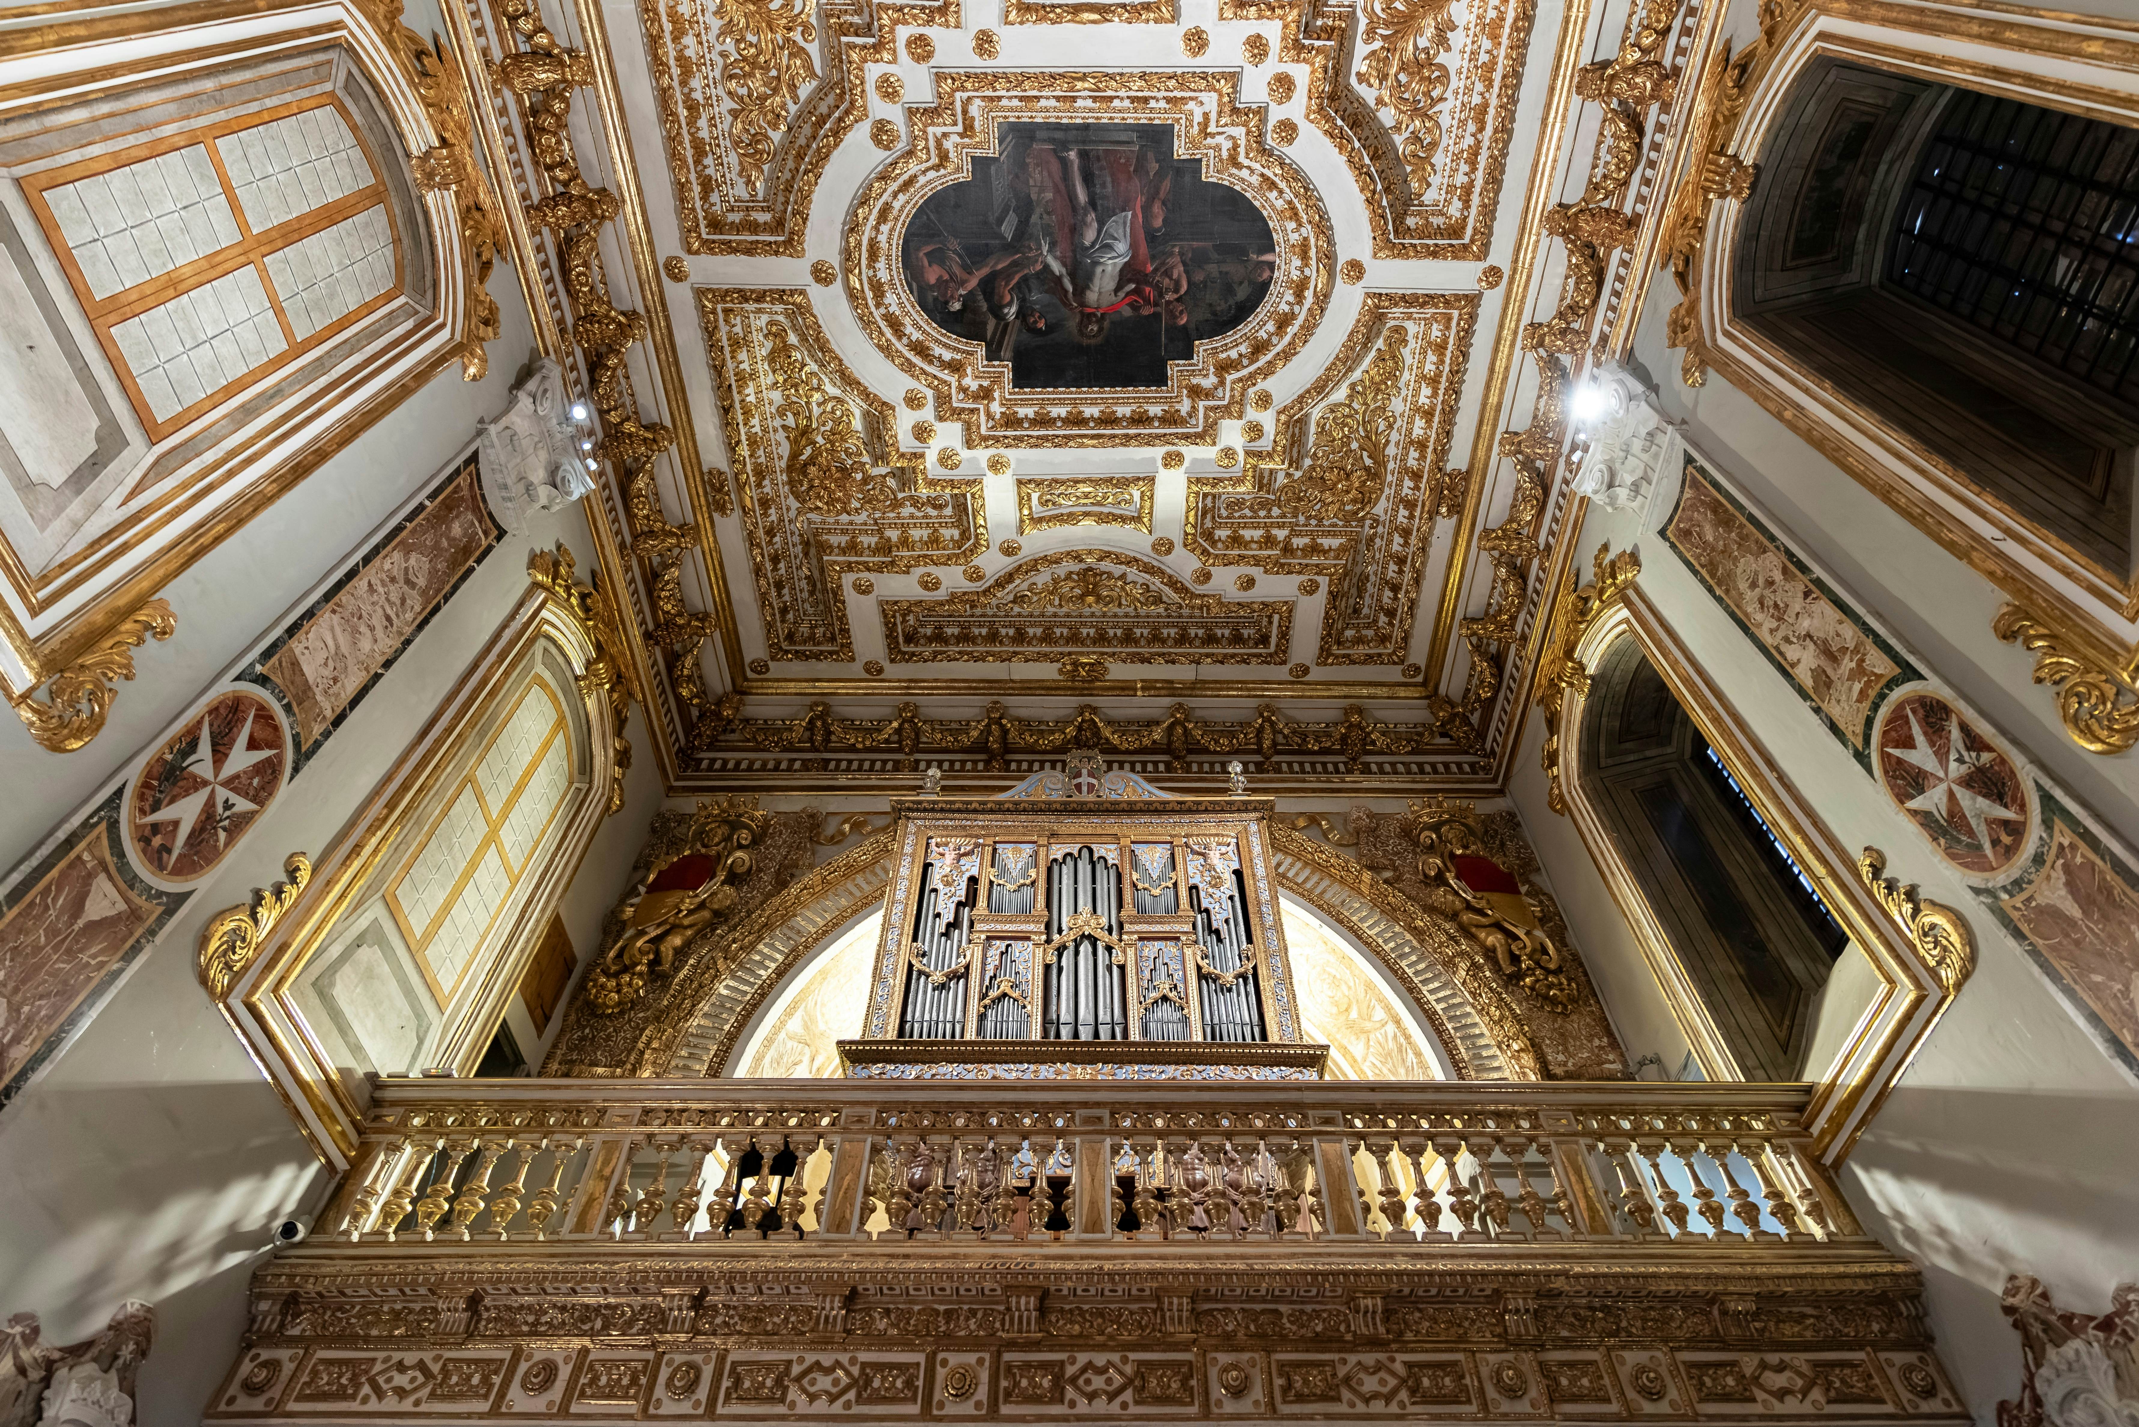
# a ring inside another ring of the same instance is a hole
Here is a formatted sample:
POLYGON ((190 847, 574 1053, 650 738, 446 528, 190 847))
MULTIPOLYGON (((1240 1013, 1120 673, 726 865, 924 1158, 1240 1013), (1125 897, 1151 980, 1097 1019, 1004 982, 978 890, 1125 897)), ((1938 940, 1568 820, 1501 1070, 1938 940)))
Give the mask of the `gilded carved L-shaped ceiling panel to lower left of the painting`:
POLYGON ((982 554, 980 477, 930 475, 924 458, 898 451, 896 409, 832 351, 806 293, 695 295, 747 494, 766 648, 772 659, 851 663, 843 576, 982 554))

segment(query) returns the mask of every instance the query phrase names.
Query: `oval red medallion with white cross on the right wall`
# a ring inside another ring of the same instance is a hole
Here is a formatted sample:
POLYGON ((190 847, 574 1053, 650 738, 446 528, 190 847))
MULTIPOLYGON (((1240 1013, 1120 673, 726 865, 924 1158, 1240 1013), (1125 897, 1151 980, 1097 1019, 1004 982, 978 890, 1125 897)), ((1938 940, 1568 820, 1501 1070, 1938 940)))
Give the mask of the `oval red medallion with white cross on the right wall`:
POLYGON ((1970 877, 2028 845, 2028 779, 2004 749, 1936 693, 1908 693, 1878 725, 1878 772, 1895 804, 1970 877))

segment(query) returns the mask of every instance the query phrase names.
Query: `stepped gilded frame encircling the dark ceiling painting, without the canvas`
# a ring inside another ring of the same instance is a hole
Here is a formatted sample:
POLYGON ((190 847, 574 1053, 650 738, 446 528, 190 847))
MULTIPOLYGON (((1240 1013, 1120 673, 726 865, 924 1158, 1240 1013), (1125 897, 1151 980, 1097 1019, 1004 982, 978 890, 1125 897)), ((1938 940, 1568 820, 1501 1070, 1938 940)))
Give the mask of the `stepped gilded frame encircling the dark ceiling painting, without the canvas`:
POLYGON ((845 272, 864 334, 928 387, 939 421, 960 421, 975 447, 1215 445, 1249 387, 1298 355, 1328 304, 1335 235, 1313 184, 1266 143, 1264 113, 1243 107, 1238 88, 1238 73, 1221 71, 935 75, 935 103, 907 107, 909 145, 853 203, 845 272), (1089 122, 1093 90, 1108 124, 1172 128, 1174 158, 1202 160, 1204 180, 1253 199, 1275 240, 1275 276, 1256 321, 1198 342, 1194 362, 1170 362, 1166 387, 1014 389, 1010 364, 926 317, 903 274, 903 233, 973 156, 1001 152, 1003 124, 1089 122))

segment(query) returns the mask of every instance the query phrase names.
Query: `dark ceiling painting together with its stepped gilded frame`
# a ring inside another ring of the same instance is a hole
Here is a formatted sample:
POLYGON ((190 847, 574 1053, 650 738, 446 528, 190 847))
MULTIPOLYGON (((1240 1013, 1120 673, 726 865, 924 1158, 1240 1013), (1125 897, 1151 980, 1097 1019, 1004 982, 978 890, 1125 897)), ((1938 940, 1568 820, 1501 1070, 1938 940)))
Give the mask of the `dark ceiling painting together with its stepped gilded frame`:
POLYGON ((1335 233, 1238 83, 935 75, 935 103, 907 107, 907 145, 862 188, 845 259, 864 334, 937 421, 975 447, 1215 445, 1298 355, 1328 306, 1335 233), (1104 124, 1084 120, 1095 86, 1104 124), (990 225, 1010 235, 988 244, 990 225), (967 289, 973 270, 988 272, 967 289))

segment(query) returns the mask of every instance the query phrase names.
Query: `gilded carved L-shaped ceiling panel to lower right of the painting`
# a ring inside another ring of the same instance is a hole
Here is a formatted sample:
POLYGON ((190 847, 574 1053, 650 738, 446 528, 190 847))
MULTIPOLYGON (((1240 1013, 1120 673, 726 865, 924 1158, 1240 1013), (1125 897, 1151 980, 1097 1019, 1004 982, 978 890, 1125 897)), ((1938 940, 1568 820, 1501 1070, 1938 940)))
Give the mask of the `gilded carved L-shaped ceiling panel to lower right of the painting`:
POLYGON ((1369 293, 1324 374, 1241 477, 1189 477, 1183 543, 1209 565, 1326 578, 1315 663, 1403 663, 1448 471, 1476 293, 1369 293))

